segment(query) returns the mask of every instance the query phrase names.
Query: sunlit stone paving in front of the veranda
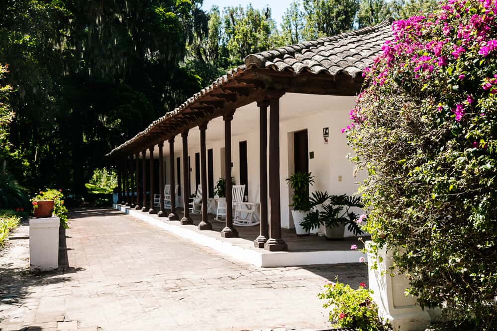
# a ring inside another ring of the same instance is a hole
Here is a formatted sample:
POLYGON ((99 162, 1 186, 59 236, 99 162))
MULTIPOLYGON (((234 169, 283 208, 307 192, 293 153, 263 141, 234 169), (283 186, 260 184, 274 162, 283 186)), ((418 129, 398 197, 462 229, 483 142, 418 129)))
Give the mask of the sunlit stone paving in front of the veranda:
POLYGON ((260 268, 111 209, 75 210, 60 265, 29 273, 28 227, 0 252, 0 330, 326 330, 327 280, 362 264, 260 268))

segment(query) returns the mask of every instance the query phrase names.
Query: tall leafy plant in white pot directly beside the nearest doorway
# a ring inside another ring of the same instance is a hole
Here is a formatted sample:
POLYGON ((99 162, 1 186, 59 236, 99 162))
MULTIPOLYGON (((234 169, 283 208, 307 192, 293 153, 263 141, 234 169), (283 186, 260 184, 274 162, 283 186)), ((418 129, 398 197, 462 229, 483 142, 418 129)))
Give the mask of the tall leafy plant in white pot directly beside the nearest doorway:
MULTIPOLYGON (((292 209, 293 223, 297 236, 307 236, 310 233, 309 228, 304 228, 301 222, 307 216, 309 211, 316 206, 317 203, 324 202, 325 196, 317 201, 312 201, 309 197, 309 186, 314 184, 314 176, 310 172, 296 172, 286 179, 288 185, 293 189, 292 209)), ((319 197, 317 197, 319 198, 319 197)))

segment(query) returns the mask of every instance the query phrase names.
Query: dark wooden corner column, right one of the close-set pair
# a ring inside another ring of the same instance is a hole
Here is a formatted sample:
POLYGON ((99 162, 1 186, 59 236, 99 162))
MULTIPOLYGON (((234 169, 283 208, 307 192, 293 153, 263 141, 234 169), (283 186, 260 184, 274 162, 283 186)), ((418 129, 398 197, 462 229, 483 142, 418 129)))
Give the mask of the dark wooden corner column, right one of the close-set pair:
POLYGON ((282 92, 268 95, 269 98, 269 239, 264 244, 268 251, 287 251, 288 246, 281 238, 280 201, 280 150, 279 150, 279 100, 282 92))

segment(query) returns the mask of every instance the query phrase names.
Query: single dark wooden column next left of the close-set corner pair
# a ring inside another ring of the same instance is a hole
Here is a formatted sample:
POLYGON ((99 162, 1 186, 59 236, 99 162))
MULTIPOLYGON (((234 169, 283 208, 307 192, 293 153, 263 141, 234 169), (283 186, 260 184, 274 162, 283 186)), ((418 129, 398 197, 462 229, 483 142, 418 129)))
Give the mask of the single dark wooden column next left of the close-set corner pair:
POLYGON ((233 197, 231 185, 231 121, 235 109, 223 116, 224 120, 224 150, 225 150, 225 178, 226 178, 226 225, 221 230, 221 236, 225 238, 238 237, 238 231, 233 226, 233 197))

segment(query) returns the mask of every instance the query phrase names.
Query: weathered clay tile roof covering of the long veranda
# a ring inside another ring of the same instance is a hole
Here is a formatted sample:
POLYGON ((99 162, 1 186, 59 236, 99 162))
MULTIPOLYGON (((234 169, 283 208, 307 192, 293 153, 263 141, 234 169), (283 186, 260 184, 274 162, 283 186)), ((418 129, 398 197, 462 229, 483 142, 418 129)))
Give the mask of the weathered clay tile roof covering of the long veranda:
POLYGON ((147 136, 159 132, 162 124, 171 118, 180 117, 181 113, 197 100, 252 68, 290 71, 295 74, 302 72, 331 76, 346 74, 354 79, 365 67, 373 63, 385 41, 393 38, 391 30, 393 21, 393 18, 389 18, 375 26, 250 54, 245 58, 244 65, 229 70, 210 86, 203 88, 179 107, 154 121, 147 129, 114 148, 107 156, 146 140, 147 136))

